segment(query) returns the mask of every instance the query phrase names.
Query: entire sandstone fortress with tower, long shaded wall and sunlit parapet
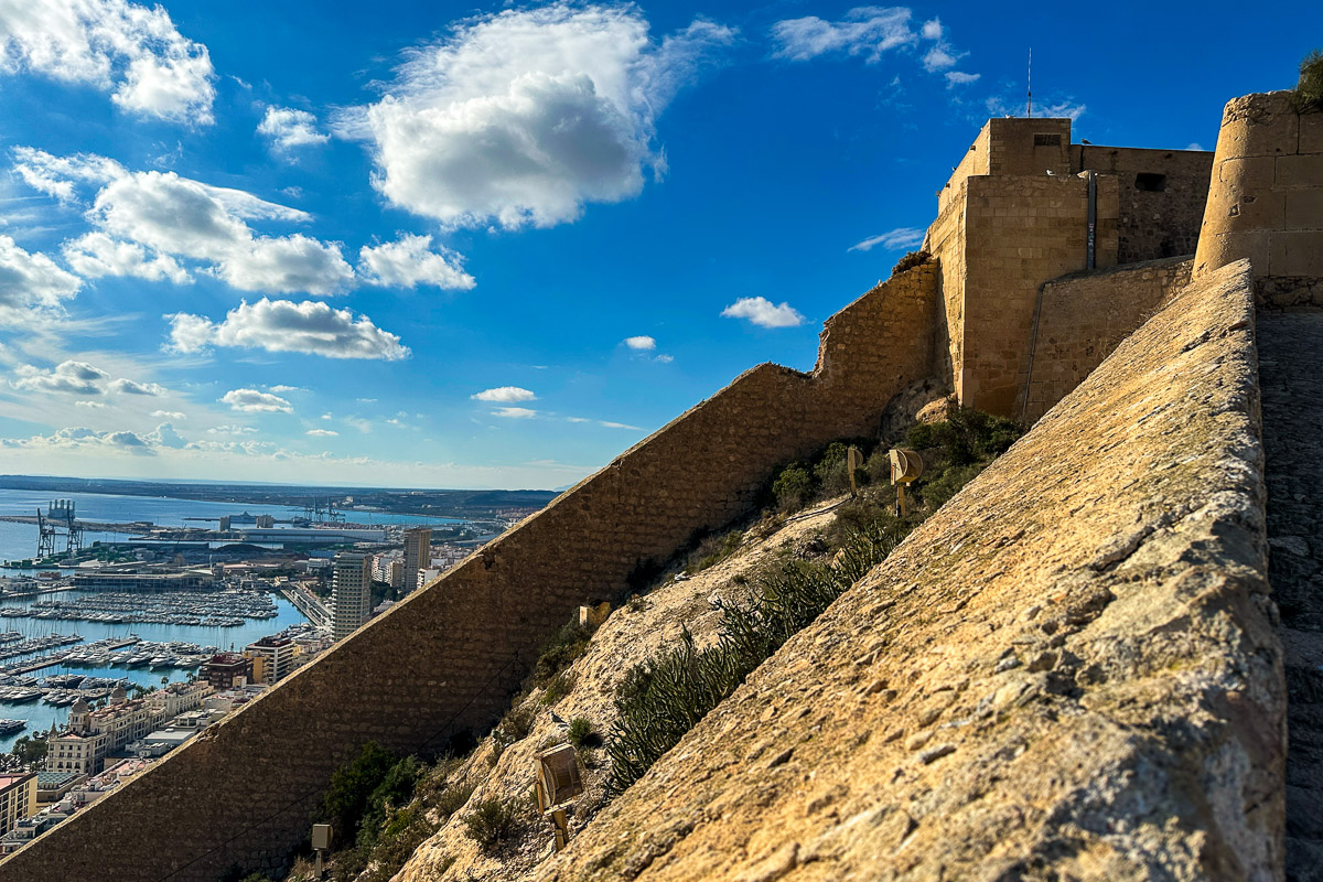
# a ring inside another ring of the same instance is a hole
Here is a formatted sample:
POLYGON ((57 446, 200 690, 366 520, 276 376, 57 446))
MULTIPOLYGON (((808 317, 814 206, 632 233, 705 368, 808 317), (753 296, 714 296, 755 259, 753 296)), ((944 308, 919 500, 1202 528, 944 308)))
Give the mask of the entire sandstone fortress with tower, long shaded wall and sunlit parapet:
MULTIPOLYGON (((364 742, 429 754, 487 731, 578 607, 746 514, 787 461, 947 391, 1032 428, 533 878, 1318 866, 1323 112, 1234 99, 1212 155, 990 120, 923 250, 826 321, 812 372, 751 368, 337 624, 331 651, 0 878, 286 866, 364 742)), ((340 616, 339 559, 336 579, 340 616)))

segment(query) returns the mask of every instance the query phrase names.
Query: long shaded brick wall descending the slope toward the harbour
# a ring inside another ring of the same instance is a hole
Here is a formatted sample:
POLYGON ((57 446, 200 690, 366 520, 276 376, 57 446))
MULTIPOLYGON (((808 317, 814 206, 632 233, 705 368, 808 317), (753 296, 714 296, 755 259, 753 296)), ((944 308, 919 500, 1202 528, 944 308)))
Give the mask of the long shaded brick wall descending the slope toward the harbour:
POLYGON ((812 374, 738 377, 146 775, 0 862, 22 882, 202 882, 280 865, 366 739, 443 748, 508 705, 538 644, 586 602, 745 512, 779 463, 868 435, 927 376, 937 268, 827 321, 812 374))

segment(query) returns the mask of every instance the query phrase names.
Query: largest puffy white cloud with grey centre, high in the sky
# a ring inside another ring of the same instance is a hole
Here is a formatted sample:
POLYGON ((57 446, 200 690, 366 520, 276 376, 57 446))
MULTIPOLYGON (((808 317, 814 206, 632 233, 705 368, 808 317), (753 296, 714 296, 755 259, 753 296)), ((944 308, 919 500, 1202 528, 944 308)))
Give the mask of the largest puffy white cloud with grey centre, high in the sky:
POLYGON ((410 50, 381 100, 337 128, 370 143, 373 185, 400 208, 553 226, 639 193, 660 163, 658 114, 733 38, 696 21, 658 44, 634 5, 507 9, 410 50))

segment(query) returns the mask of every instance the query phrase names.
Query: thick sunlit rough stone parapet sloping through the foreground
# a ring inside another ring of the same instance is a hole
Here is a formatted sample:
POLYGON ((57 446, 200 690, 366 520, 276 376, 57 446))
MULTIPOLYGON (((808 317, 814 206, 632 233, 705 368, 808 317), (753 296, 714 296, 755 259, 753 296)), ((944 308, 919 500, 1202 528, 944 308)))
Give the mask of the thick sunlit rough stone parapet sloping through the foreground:
POLYGON ((1279 878, 1253 335, 1175 295, 533 878, 1279 878))

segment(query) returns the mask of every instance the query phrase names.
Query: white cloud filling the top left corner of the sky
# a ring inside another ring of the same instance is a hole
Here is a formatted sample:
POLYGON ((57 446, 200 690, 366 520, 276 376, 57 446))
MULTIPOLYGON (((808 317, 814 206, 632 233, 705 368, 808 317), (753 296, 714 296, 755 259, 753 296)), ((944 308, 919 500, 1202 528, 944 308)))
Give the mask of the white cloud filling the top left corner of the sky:
POLYGON ((216 73, 206 46, 159 5, 126 0, 0 0, 0 71, 32 71, 111 93, 131 114, 209 124, 216 73))

